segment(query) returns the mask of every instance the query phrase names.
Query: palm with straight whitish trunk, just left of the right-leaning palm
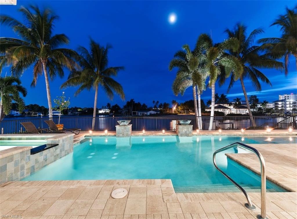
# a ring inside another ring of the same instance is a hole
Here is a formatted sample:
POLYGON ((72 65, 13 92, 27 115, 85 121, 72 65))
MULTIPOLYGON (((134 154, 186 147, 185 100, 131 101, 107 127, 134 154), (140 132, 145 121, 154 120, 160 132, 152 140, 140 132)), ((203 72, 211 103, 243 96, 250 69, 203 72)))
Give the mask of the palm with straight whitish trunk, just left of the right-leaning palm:
POLYGON ((211 86, 211 112, 209 130, 212 130, 213 118, 214 118, 214 104, 215 104, 215 83, 218 76, 224 73, 226 76, 231 72, 241 74, 243 67, 238 59, 225 53, 225 50, 233 49, 236 39, 230 38, 222 43, 214 45, 211 37, 207 34, 201 34, 198 37, 197 45, 202 45, 204 53, 206 54, 206 67, 209 74, 208 85, 211 86))

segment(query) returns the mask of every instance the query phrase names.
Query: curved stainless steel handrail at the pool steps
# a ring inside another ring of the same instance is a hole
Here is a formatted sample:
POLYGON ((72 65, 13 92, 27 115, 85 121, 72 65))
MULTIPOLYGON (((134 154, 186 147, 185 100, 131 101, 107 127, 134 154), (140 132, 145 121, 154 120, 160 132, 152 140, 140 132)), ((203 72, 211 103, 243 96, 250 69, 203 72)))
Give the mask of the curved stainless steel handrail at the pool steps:
POLYGON ((260 164, 261 164, 261 215, 257 215, 257 218, 266 218, 266 172, 265 172, 265 160, 263 158, 263 156, 261 155, 261 153, 251 147, 251 146, 248 146, 246 144, 242 144, 240 142, 235 142, 233 144, 230 144, 226 147, 223 147, 221 149, 218 149, 214 152, 213 154, 213 162, 214 162, 214 166, 217 168, 218 171, 220 171, 227 179, 229 179, 234 185, 236 185, 236 187, 238 189, 240 189, 243 193, 244 193, 244 196, 247 198, 247 203, 245 203, 245 207, 247 207, 248 209, 251 209, 251 210, 255 210, 256 207, 252 204, 252 201, 251 199, 249 198, 249 195, 247 194, 247 191, 244 190, 244 188, 242 188, 237 182, 235 182, 231 177, 229 177, 224 171, 222 171, 218 166, 217 166, 217 163, 216 163, 216 154, 219 153, 219 152, 222 152, 224 150, 227 150, 227 149, 230 149, 232 147, 234 147, 235 145, 239 145, 240 147, 243 147, 245 149, 248 149, 249 151, 252 151, 254 152, 259 160, 260 160, 260 164))

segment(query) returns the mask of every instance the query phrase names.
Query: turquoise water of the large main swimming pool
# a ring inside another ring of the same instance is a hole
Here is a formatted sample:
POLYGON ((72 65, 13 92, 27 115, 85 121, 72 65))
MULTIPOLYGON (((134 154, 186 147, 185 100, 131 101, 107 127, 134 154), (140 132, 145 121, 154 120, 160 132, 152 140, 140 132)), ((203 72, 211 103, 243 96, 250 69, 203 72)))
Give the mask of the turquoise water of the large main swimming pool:
MULTIPOLYGON (((23 180, 171 179, 176 192, 239 191, 213 165, 213 152, 245 144, 293 143, 296 137, 132 136, 84 139, 74 152, 23 180), (292 138, 292 139, 291 139, 292 138), (290 141, 292 140, 292 141, 290 141)), ((260 189, 260 177, 226 158, 247 153, 236 147, 217 155, 217 163, 245 189, 260 189)), ((268 191, 285 191, 267 181, 268 191)))

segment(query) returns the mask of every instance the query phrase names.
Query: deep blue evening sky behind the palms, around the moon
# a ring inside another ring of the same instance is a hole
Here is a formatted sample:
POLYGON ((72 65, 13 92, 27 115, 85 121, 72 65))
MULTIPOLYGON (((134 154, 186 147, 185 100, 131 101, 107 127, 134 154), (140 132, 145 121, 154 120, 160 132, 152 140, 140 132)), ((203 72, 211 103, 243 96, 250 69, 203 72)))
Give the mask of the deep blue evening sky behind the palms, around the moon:
MULTIPOLYGON (((76 49, 78 45, 89 48, 89 37, 102 45, 110 43, 113 48, 109 53, 110 66, 124 66, 116 80, 124 87, 126 101, 135 101, 152 105, 153 100, 178 102, 192 99, 192 91, 188 89, 184 96, 173 95, 171 85, 176 70, 169 72, 168 63, 174 53, 183 44, 194 47, 201 33, 212 33, 214 42, 226 38, 224 30, 233 28, 240 22, 248 26, 248 33, 255 28, 264 28, 262 37, 279 37, 279 29, 269 27, 279 14, 285 12, 285 7, 293 8, 296 1, 17 1, 17 6, 2 6, 0 13, 10 15, 23 21, 17 9, 23 5, 37 4, 49 7, 59 20, 55 23, 54 33, 64 33, 70 38, 67 48, 76 49), (168 15, 177 15, 175 24, 168 23, 168 15)), ((7 26, 1 26, 1 37, 17 37, 7 26)), ((9 69, 4 69, 2 75, 9 69)), ((271 80, 272 87, 263 84, 262 92, 255 92, 250 81, 245 81, 248 94, 256 94, 260 100, 274 101, 278 94, 296 93, 297 72, 295 59, 290 58, 289 74, 264 69, 271 80)), ((50 83, 52 98, 61 94, 59 87, 67 79, 56 78, 50 83)), ((28 89, 26 104, 37 103, 47 106, 44 76, 40 77, 35 88, 31 88, 32 68, 26 70, 21 77, 23 85, 28 89)), ((216 92, 226 93, 228 84, 216 87, 216 92)), ((70 106, 93 107, 94 91, 84 91, 74 97, 75 88, 63 90, 70 97, 70 106)), ((210 99, 209 88, 202 99, 210 99)), ((229 100, 235 97, 244 99, 240 82, 228 94, 229 100)), ((105 93, 99 90, 98 105, 107 102, 124 102, 119 97, 108 100, 105 93)))

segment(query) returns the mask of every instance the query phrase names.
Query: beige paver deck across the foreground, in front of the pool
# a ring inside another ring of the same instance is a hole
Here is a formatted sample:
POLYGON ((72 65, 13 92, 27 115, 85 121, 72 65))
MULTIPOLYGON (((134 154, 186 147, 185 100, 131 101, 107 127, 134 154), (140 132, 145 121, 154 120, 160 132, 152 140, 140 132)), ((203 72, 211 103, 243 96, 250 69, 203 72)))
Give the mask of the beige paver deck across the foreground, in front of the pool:
MULTIPOLYGON (((1 215, 22 218, 255 218, 260 194, 174 193, 170 180, 83 180, 7 182, 0 187, 1 215), (126 188, 122 199, 112 190, 126 188)), ((267 193, 269 218, 296 218, 296 193, 267 193)))

